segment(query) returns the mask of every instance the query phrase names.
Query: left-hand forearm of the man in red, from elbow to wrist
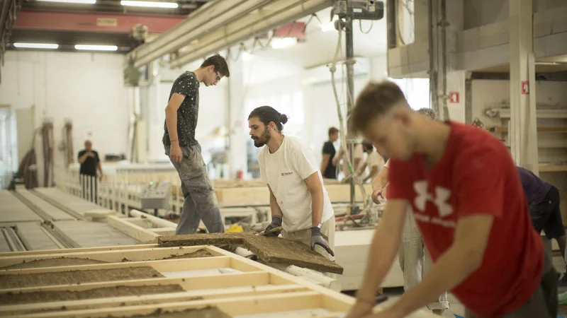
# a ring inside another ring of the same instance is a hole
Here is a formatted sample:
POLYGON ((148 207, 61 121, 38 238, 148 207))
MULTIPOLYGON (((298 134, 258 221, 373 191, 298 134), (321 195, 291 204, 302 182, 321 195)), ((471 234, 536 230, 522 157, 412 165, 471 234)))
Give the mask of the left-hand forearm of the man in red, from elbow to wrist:
MULTIPOLYGON (((387 213, 387 212, 386 212, 387 213)), ((378 223, 366 261, 364 279, 357 293, 357 298, 366 302, 374 301, 380 284, 392 266, 400 247, 401 232, 395 234, 378 223)))

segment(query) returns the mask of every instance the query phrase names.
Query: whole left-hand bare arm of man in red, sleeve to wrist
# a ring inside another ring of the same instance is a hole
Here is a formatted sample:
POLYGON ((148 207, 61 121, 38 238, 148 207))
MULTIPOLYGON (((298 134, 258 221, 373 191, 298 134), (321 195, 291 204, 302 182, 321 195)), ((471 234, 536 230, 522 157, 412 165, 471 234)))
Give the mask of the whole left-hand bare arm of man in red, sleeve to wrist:
POLYGON ((369 249, 368 261, 357 299, 374 304, 384 277, 398 254, 408 201, 395 199, 386 203, 386 211, 378 223, 369 249))

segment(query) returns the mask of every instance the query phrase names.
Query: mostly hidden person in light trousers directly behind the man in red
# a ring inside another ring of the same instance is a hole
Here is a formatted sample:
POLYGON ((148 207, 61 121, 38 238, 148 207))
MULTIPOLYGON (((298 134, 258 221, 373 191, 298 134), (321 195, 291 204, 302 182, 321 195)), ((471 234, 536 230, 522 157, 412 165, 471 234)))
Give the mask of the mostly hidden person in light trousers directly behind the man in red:
MULTIPOLYGON (((437 117, 435 112, 430 108, 422 108, 417 110, 417 112, 426 114, 432 119, 436 119, 437 117)), ((381 172, 372 180, 372 200, 376 204, 386 197, 386 189, 388 187, 388 163, 390 163, 390 160, 386 161, 381 172)), ((417 223, 415 223, 410 208, 408 208, 405 217, 402 244, 400 245, 398 259, 403 271, 403 289, 405 291, 414 288, 417 283, 420 283, 423 276, 433 267, 433 262, 425 249, 423 238, 420 234, 420 230, 417 228, 417 223)), ((432 310, 435 314, 442 315, 445 310, 449 309, 447 292, 440 295, 437 302, 432 302, 427 305, 427 308, 432 310)))

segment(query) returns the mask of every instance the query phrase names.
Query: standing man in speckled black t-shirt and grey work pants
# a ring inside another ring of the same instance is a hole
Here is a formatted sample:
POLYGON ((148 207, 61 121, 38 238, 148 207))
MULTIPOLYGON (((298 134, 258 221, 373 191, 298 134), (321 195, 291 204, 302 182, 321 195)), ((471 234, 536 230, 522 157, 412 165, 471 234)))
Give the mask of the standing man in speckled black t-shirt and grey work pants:
POLYGON ((200 83, 214 86, 224 76, 230 76, 228 65, 217 54, 206 59, 195 71, 181 74, 169 93, 163 143, 165 154, 179 173, 185 197, 176 234, 196 232, 201 220, 209 232, 225 232, 216 194, 201 156, 201 146, 195 139, 200 83))

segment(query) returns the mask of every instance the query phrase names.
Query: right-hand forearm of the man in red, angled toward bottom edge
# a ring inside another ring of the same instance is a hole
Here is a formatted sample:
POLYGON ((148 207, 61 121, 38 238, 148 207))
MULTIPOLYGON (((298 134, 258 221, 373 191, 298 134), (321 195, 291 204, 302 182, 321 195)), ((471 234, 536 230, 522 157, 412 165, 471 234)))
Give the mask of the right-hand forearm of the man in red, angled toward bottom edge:
POLYGON ((427 276, 415 288, 404 293, 393 305, 404 315, 408 315, 421 307, 439 299, 439 295, 462 283, 476 266, 471 262, 464 249, 454 245, 443 254, 432 267, 427 276))

